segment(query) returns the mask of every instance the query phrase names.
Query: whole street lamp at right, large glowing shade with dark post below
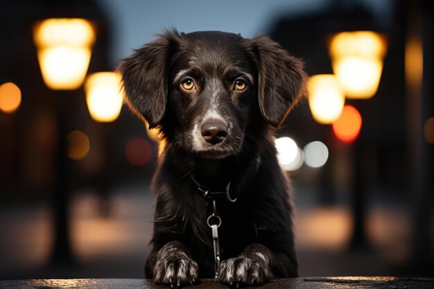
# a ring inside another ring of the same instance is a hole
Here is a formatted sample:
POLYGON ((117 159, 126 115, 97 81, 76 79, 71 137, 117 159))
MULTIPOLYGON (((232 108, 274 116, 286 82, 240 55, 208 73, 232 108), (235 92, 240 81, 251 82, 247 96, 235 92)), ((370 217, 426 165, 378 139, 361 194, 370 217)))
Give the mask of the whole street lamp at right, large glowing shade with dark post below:
MULTIPOLYGON (((385 52, 385 37, 374 31, 341 32, 331 37, 329 54, 333 73, 336 75, 347 98, 367 99, 376 94, 383 70, 385 52)), ((336 133, 336 126, 333 125, 333 129, 335 129, 336 133)), ((361 127, 358 130, 361 130, 361 127)), ((350 141, 355 141, 353 198, 351 202, 354 213, 354 227, 351 246, 363 248, 367 246, 365 234, 365 172, 363 170, 364 148, 361 141, 356 141, 357 137, 358 135, 355 134, 355 137, 350 139, 350 141)))

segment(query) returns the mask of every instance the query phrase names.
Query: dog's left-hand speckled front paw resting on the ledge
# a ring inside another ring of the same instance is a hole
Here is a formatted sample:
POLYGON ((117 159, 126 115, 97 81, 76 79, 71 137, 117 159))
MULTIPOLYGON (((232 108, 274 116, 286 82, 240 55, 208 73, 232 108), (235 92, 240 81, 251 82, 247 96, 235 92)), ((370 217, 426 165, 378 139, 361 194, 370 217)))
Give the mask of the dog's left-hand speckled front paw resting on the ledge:
POLYGON ((167 256, 154 267, 154 283, 172 288, 199 283, 198 264, 184 256, 167 256))

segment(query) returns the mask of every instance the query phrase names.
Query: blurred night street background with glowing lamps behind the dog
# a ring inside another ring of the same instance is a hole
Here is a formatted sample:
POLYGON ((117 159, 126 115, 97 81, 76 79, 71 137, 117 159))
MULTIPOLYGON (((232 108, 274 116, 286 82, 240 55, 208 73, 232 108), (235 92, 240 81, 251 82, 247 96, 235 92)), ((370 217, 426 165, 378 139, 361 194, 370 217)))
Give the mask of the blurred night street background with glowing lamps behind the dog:
POLYGON ((300 276, 433 277, 428 2, 2 1, 0 279, 144 276, 158 144, 108 72, 168 27, 304 60, 309 101, 276 141, 300 276))

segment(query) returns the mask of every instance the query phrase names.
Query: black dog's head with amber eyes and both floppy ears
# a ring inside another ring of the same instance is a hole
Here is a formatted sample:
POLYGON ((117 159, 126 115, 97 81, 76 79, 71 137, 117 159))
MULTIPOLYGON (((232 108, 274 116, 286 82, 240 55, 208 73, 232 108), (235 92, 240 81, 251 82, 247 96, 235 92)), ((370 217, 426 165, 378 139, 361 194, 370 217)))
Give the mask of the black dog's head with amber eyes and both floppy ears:
POLYGON ((119 71, 135 114, 169 143, 209 158, 241 152, 254 118, 279 127, 306 81, 302 62, 268 37, 217 31, 166 31, 119 71))

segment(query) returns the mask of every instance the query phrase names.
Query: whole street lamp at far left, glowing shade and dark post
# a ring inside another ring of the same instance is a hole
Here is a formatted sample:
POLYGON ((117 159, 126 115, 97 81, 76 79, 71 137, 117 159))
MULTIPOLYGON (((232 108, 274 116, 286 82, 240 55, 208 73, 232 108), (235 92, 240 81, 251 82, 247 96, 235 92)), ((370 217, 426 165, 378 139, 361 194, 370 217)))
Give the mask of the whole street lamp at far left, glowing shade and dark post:
POLYGON ((54 247, 51 262, 73 261, 69 232, 69 166, 67 151, 68 91, 78 89, 89 67, 95 31, 86 19, 52 18, 39 21, 33 28, 33 40, 42 77, 47 87, 58 91, 57 157, 53 193, 54 247))

